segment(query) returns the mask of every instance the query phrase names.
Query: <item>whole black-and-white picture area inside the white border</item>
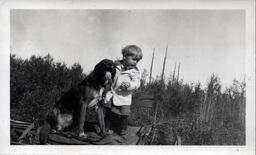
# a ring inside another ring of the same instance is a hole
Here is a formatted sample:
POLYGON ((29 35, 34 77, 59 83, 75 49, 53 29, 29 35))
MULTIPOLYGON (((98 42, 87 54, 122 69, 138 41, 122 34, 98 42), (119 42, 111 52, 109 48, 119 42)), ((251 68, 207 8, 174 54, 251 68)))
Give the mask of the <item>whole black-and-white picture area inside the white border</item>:
POLYGON ((246 145, 244 10, 10 10, 11 145, 246 145))

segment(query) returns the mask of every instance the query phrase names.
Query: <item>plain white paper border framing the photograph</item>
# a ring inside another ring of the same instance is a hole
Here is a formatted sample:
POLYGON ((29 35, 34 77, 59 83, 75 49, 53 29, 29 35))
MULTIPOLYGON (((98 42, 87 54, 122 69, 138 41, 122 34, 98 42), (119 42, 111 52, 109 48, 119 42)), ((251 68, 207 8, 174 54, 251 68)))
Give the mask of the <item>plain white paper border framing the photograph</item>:
POLYGON ((255 154, 255 1, 75 1, 0 0, 0 154, 255 154), (245 146, 33 146, 10 145, 10 10, 11 9, 190 9, 246 11, 245 146))

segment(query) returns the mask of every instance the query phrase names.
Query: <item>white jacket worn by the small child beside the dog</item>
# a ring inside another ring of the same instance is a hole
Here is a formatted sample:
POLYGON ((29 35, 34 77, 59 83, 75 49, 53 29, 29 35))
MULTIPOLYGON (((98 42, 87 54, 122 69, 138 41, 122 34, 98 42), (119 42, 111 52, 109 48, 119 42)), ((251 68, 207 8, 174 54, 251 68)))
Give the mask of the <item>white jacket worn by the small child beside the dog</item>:
POLYGON ((121 65, 117 66, 116 76, 113 86, 113 104, 115 106, 131 105, 132 92, 140 87, 140 72, 138 69, 122 70, 121 65), (122 82, 129 82, 127 90, 120 89, 122 82))

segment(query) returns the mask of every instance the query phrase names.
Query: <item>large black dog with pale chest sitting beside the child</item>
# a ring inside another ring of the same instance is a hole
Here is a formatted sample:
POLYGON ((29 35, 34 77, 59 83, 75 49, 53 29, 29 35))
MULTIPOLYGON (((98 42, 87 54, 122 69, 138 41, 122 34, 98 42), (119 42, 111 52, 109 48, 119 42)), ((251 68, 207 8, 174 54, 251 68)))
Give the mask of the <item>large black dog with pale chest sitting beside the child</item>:
MULTIPOLYGON (((66 92, 47 115, 39 135, 40 144, 47 143, 51 129, 62 130, 71 125, 78 126, 79 137, 86 138, 86 109, 98 102, 108 102, 106 95, 111 90, 115 73, 115 63, 104 59, 77 87, 66 92)), ((99 118, 99 122, 104 123, 104 118, 99 118)))

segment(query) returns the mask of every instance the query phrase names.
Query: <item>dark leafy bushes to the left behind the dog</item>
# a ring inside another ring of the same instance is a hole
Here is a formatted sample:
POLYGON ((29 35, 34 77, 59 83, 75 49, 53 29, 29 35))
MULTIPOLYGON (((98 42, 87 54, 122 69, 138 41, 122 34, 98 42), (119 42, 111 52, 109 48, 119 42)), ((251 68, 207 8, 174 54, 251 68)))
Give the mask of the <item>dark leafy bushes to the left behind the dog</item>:
POLYGON ((68 68, 48 54, 22 60, 10 56, 11 119, 44 118, 63 92, 78 84, 84 74, 79 64, 68 68))

